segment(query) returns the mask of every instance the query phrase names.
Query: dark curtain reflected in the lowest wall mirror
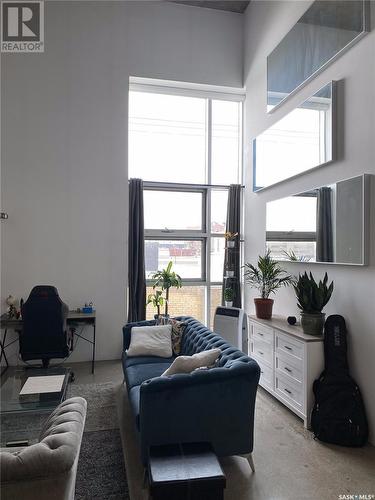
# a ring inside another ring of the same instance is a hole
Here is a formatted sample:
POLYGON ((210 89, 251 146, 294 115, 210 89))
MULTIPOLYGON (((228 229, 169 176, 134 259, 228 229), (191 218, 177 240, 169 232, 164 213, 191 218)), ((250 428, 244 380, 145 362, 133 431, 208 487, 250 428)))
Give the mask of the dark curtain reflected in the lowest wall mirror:
POLYGON ((332 190, 322 187, 317 191, 316 260, 333 262, 332 190))

